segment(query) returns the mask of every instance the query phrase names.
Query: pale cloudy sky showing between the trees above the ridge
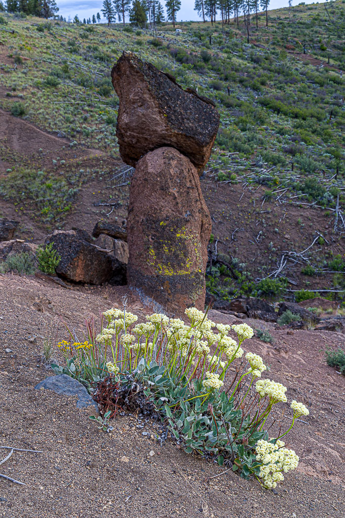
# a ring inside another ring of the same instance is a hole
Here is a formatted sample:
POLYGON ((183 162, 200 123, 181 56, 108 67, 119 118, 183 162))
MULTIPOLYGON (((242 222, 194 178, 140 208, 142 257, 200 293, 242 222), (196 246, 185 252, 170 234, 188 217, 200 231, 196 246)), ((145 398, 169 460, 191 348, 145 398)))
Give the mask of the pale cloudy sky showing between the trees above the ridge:
MULTIPOLYGON (((301 0, 293 0, 293 5, 297 5, 301 0)), ((312 4, 313 0, 304 0, 306 4, 312 4)), ((165 5, 164 0, 160 0, 161 4, 165 5)), ((319 2, 321 3, 321 2, 319 2)), ((66 20, 68 17, 74 18, 74 15, 78 15, 79 18, 91 18, 92 15, 96 15, 97 12, 101 13, 102 0, 92 2, 92 0, 56 0, 56 4, 59 8, 59 15, 62 15, 66 20)), ((177 21, 186 20, 198 20, 198 13, 194 11, 194 0, 182 0, 181 10, 177 13, 177 21)), ((288 0, 271 0, 269 3, 269 9, 277 9, 278 7, 287 7, 288 0)), ((102 20, 105 21, 105 20, 102 20)))

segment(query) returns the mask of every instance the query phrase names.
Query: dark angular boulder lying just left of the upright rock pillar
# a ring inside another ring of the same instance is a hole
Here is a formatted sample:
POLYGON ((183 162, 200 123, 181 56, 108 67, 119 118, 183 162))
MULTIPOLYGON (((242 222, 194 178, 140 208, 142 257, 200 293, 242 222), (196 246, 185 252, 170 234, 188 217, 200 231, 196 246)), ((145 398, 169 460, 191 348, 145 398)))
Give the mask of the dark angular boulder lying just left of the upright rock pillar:
POLYGON ((56 274, 63 279, 88 284, 126 284, 126 266, 75 231, 55 231, 46 240, 61 256, 56 274))

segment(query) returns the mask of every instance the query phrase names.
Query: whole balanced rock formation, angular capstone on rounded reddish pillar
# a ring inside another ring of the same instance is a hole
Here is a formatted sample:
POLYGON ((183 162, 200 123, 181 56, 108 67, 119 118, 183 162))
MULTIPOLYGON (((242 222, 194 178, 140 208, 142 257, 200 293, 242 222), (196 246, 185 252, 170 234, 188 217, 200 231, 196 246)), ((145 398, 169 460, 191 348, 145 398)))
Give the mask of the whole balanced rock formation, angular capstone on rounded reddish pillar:
POLYGON ((136 166, 129 195, 128 284, 170 312, 204 309, 211 219, 199 174, 219 126, 214 104, 124 52, 112 69, 116 135, 136 166))

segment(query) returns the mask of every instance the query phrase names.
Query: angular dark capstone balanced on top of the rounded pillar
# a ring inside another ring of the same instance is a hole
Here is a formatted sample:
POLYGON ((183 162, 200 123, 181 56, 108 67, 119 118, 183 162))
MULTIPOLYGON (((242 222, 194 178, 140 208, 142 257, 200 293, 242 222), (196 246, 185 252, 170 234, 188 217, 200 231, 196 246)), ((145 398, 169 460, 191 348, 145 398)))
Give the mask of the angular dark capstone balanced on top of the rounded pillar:
POLYGON ((119 97, 116 136, 123 161, 133 167, 148 151, 171 146, 202 171, 218 126, 213 102, 183 90, 170 75, 125 51, 111 71, 119 97))

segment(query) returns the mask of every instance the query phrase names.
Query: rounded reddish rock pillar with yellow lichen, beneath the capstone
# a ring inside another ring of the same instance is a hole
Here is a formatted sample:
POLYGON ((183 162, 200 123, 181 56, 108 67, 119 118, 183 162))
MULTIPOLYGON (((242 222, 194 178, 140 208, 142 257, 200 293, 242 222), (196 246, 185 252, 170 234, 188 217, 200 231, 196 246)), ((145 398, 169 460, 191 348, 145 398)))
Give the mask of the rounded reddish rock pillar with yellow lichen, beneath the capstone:
POLYGON ((204 309, 211 219, 197 170, 176 149, 156 149, 138 162, 127 230, 128 283, 170 312, 204 309))

